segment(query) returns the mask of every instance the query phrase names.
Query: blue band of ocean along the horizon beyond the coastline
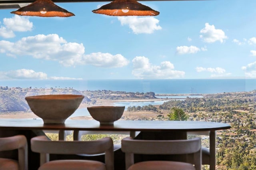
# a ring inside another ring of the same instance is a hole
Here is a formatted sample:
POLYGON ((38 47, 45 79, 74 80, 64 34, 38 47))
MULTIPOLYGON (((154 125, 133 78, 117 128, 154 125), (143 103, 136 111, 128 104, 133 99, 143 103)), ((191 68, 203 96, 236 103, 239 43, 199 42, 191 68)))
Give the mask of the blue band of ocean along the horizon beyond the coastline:
POLYGON ((210 94, 252 91, 256 89, 256 79, 1 80, 0 86, 154 92, 156 94, 210 94))

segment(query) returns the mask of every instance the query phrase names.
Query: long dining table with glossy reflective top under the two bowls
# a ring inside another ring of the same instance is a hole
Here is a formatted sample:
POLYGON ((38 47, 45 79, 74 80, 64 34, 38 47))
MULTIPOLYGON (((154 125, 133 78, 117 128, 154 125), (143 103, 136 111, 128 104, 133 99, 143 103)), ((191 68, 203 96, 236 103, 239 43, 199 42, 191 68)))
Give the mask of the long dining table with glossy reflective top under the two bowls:
POLYGON ((210 137, 210 170, 215 169, 216 164, 216 131, 231 128, 227 123, 208 121, 130 121, 118 120, 114 125, 100 125, 96 120, 67 119, 63 124, 44 124, 40 118, 34 119, 0 119, 0 131, 4 130, 74 130, 74 131, 111 131, 130 132, 130 136, 136 137, 140 132, 140 139, 183 139, 187 134, 209 133, 210 137))

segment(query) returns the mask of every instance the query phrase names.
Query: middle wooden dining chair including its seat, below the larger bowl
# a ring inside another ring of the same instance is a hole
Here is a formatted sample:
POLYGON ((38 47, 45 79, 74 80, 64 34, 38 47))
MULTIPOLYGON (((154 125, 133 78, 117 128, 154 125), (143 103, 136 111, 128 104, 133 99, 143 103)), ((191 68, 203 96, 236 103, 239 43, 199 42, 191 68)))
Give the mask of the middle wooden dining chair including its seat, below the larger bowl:
POLYGON ((31 138, 31 150, 40 153, 38 170, 114 170, 113 141, 106 137, 92 141, 48 140, 31 138), (98 154, 105 152, 105 162, 94 160, 51 160, 50 154, 98 154))

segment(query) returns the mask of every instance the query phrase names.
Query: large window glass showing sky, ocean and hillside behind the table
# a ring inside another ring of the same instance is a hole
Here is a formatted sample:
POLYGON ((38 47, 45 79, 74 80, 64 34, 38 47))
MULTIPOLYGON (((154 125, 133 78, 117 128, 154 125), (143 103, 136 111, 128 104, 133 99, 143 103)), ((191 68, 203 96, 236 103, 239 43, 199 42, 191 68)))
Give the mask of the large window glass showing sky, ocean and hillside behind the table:
POLYGON ((107 3, 56 3, 68 18, 0 10, 0 117, 36 118, 24 98, 46 94, 84 95, 73 119, 90 119, 92 105, 125 106, 124 120, 173 120, 178 108, 189 121, 232 125, 218 134, 217 164, 255 169, 256 1, 141 2, 158 16, 92 12, 107 3))

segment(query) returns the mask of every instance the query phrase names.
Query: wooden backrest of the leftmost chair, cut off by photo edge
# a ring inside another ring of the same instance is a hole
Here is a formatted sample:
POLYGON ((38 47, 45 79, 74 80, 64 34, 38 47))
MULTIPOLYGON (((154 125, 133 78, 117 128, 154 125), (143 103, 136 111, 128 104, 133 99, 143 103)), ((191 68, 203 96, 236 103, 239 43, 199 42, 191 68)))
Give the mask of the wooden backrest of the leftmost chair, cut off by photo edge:
POLYGON ((0 138, 0 151, 18 149, 20 170, 28 170, 28 144, 24 135, 0 138))

